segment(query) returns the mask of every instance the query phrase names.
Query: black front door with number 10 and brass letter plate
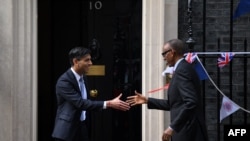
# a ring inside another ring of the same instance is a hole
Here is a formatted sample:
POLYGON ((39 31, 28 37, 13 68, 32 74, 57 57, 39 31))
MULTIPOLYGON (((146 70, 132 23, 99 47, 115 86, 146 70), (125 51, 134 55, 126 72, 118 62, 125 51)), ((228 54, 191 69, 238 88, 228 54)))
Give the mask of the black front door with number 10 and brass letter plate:
MULTIPOLYGON (((142 0, 38 0, 38 140, 52 140, 54 86, 74 46, 92 50, 92 100, 141 89, 142 0), (48 77, 44 77, 48 76, 48 77)), ((141 141, 141 107, 89 114, 92 141, 141 141)))

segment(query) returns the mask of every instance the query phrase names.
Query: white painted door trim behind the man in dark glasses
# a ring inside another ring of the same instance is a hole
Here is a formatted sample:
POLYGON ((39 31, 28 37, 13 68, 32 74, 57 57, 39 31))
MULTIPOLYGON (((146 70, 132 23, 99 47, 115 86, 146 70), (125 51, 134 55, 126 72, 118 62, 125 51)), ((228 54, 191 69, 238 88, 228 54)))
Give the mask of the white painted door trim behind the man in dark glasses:
MULTIPOLYGON (((142 7, 142 94, 163 99, 164 91, 154 94, 147 91, 162 87, 165 82, 161 52, 166 40, 177 38, 178 1, 143 0, 142 7)), ((161 140, 169 121, 168 112, 149 110, 142 105, 142 141, 161 140)))

